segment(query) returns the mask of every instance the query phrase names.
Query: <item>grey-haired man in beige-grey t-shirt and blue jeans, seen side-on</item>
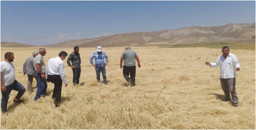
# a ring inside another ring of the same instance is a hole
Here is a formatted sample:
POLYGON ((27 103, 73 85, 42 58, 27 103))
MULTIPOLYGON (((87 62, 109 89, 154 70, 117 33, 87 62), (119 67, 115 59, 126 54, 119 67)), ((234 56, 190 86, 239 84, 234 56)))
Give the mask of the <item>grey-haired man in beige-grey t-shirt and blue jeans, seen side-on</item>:
POLYGON ((47 81, 45 78, 45 72, 46 72, 46 66, 44 64, 44 58, 43 56, 46 55, 46 50, 44 48, 40 48, 38 50, 38 55, 34 58, 34 67, 36 69, 36 76, 38 78, 38 86, 37 86, 37 92, 36 97, 34 100, 38 100, 41 96, 46 95, 46 89, 47 89, 47 81))

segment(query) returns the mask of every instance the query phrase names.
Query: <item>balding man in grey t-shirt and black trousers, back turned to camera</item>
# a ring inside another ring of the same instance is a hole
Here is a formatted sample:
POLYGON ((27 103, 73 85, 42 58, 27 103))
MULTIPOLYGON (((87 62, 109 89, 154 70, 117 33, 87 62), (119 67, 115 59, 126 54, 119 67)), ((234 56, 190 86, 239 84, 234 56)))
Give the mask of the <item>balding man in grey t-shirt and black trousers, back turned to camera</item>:
POLYGON ((135 59, 138 62, 138 67, 141 68, 141 64, 139 62, 139 57, 137 53, 131 50, 130 46, 125 47, 125 51, 123 51, 120 59, 120 68, 122 69, 122 64, 124 61, 123 66, 123 75, 126 81, 128 82, 127 86, 135 86, 135 75, 136 75, 136 66, 135 66, 135 59), (129 77, 129 74, 131 77, 129 77))

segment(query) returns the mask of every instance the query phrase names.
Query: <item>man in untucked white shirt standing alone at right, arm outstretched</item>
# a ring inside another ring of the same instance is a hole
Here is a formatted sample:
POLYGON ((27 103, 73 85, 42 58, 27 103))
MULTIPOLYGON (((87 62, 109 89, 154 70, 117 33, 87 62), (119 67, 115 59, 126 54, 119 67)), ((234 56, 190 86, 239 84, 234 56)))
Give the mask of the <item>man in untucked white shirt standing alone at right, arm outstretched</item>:
POLYGON ((230 94, 233 100, 233 106, 237 107, 238 97, 235 91, 235 74, 236 71, 240 71, 240 64, 237 60, 237 56, 229 52, 228 46, 222 47, 223 55, 220 55, 215 63, 205 62, 210 67, 220 66, 220 84, 225 94, 225 101, 230 101, 230 94))

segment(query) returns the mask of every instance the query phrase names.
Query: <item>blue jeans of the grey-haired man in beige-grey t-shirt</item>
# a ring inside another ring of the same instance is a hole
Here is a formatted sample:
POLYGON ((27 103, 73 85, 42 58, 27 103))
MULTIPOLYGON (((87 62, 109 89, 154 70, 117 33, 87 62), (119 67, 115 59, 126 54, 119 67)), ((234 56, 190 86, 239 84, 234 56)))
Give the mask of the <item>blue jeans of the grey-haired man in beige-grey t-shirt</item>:
MULTIPOLYGON (((43 73, 45 75, 45 73, 43 73)), ((41 74, 36 72, 36 76, 38 78, 38 86, 37 86, 37 92, 36 92, 36 97, 34 100, 38 100, 38 98, 46 95, 46 89, 47 89, 47 81, 46 78, 42 79, 41 74)))

